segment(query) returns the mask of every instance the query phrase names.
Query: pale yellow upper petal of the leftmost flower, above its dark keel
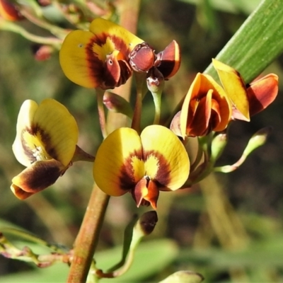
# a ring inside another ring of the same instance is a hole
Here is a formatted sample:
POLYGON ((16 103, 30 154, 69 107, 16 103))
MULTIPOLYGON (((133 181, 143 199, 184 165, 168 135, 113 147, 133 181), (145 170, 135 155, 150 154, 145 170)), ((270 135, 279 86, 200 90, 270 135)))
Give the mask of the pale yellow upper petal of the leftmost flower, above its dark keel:
POLYGON ((51 158, 68 166, 78 137, 76 120, 64 105, 54 99, 45 99, 40 105, 26 100, 18 115, 13 152, 24 166, 51 158))

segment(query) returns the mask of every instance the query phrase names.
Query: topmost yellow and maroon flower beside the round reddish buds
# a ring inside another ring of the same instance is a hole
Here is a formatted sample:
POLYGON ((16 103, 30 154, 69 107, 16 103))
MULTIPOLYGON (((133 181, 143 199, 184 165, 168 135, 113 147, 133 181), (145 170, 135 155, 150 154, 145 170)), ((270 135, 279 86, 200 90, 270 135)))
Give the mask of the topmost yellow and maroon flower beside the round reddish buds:
POLYGON ((65 38, 59 59, 64 74, 86 88, 115 88, 132 75, 129 53, 143 42, 120 25, 96 18, 89 31, 65 38))

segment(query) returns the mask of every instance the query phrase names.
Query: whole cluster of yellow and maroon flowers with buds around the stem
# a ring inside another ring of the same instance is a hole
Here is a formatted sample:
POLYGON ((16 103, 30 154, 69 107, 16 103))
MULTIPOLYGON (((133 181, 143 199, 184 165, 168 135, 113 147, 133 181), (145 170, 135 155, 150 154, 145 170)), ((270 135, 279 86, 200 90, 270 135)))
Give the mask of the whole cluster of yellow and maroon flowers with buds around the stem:
POLYGON ((112 196, 130 192, 138 207, 151 205, 156 209, 160 191, 190 186, 213 171, 218 153, 225 146, 214 132, 224 132, 233 120, 249 121, 250 116, 272 103, 278 91, 275 74, 246 85, 235 69, 214 59, 221 83, 198 73, 168 127, 159 123, 161 82, 170 79, 180 67, 180 48, 175 40, 156 54, 153 47, 125 28, 96 18, 89 31, 74 30, 67 35, 59 60, 71 81, 96 88, 98 96, 126 83, 132 74, 144 74, 136 76, 140 89, 134 110, 115 93, 103 97, 108 109, 132 118, 132 126, 108 134, 100 105, 105 139, 94 160, 76 145, 76 121, 62 104, 52 99, 40 105, 26 100, 18 115, 13 144, 16 158, 27 167, 12 180, 11 189, 20 199, 52 185, 74 161, 87 160, 94 161, 93 177, 103 192, 112 196), (141 130, 144 86, 154 96, 156 117, 153 125, 141 130), (207 144, 212 148, 204 149, 200 142, 200 158, 191 164, 185 145, 193 137, 209 137, 207 144))

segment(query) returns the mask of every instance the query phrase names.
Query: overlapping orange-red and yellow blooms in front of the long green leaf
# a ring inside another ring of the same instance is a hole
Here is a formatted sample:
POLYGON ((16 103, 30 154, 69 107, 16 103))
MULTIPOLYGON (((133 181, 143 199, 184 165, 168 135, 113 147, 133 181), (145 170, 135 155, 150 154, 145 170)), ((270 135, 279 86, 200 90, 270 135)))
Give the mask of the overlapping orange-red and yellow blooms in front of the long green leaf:
POLYGON ((231 120, 250 121, 250 115, 267 108, 278 92, 278 76, 269 74, 245 85, 241 75, 228 65, 212 59, 221 81, 198 73, 182 106, 171 122, 180 137, 201 137, 223 131, 231 120))

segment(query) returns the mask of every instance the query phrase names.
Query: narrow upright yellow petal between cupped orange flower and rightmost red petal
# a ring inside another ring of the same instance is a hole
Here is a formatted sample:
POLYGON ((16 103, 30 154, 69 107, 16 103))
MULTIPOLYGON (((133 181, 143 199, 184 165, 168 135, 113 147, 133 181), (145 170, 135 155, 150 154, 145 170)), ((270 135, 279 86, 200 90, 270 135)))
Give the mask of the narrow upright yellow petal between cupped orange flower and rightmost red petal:
POLYGON ((212 63, 233 105, 246 117, 247 121, 250 121, 248 93, 241 75, 235 69, 216 59, 212 59, 212 63))

